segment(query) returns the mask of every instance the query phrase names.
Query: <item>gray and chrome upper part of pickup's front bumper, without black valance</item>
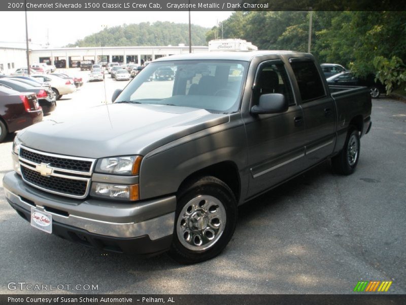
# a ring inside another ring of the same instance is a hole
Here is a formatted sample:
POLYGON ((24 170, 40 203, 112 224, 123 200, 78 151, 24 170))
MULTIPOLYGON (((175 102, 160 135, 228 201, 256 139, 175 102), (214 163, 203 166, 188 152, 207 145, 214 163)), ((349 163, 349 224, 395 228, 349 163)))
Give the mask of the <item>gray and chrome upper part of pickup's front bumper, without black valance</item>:
POLYGON ((54 222, 90 233, 119 238, 148 235, 151 240, 173 234, 176 196, 137 203, 82 201, 32 188, 16 172, 7 173, 3 185, 11 205, 27 211, 35 207, 51 214, 54 222))

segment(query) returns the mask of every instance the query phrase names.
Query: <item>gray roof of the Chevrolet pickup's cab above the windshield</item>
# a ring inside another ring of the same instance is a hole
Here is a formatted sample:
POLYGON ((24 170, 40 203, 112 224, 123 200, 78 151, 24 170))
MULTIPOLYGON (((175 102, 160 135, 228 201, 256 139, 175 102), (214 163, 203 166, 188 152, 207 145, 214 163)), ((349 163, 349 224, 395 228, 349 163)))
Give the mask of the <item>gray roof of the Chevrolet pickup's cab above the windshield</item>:
POLYGON ((285 51, 285 50, 261 50, 261 51, 221 51, 221 52, 207 52, 207 53, 187 53, 180 55, 171 55, 155 59, 154 62, 166 62, 168 60, 193 60, 193 59, 229 59, 229 60, 243 60, 250 62, 254 57, 262 55, 307 55, 309 53, 285 51))

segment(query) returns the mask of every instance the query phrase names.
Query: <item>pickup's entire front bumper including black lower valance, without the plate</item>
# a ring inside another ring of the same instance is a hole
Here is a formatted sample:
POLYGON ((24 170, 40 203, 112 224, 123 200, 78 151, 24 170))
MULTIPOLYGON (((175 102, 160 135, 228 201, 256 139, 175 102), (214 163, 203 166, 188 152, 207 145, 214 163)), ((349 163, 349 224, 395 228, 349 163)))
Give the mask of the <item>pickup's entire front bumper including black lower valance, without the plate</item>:
POLYGON ((3 179, 6 199, 25 220, 35 207, 52 215, 52 233, 103 251, 151 255, 172 242, 176 197, 121 203, 77 200, 30 187, 16 172, 3 179))

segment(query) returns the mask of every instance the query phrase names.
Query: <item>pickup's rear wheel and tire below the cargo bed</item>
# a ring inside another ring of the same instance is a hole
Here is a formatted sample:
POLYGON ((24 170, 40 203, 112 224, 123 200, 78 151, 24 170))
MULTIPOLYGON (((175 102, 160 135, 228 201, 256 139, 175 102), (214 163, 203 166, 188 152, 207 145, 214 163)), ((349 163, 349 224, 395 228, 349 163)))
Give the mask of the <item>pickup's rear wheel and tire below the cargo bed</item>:
POLYGON ((359 154, 359 131, 354 126, 350 126, 343 150, 341 150, 339 155, 331 159, 334 171, 342 175, 352 174, 357 167, 359 154))

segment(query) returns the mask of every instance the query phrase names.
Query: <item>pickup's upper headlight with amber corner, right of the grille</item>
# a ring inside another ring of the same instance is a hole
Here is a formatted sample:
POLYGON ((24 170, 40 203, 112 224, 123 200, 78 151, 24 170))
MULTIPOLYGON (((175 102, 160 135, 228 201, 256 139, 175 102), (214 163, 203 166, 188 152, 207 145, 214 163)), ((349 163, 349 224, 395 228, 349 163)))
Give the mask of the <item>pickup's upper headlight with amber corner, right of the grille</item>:
POLYGON ((99 159, 95 172, 117 175, 138 175, 140 172, 141 156, 124 156, 99 159))

